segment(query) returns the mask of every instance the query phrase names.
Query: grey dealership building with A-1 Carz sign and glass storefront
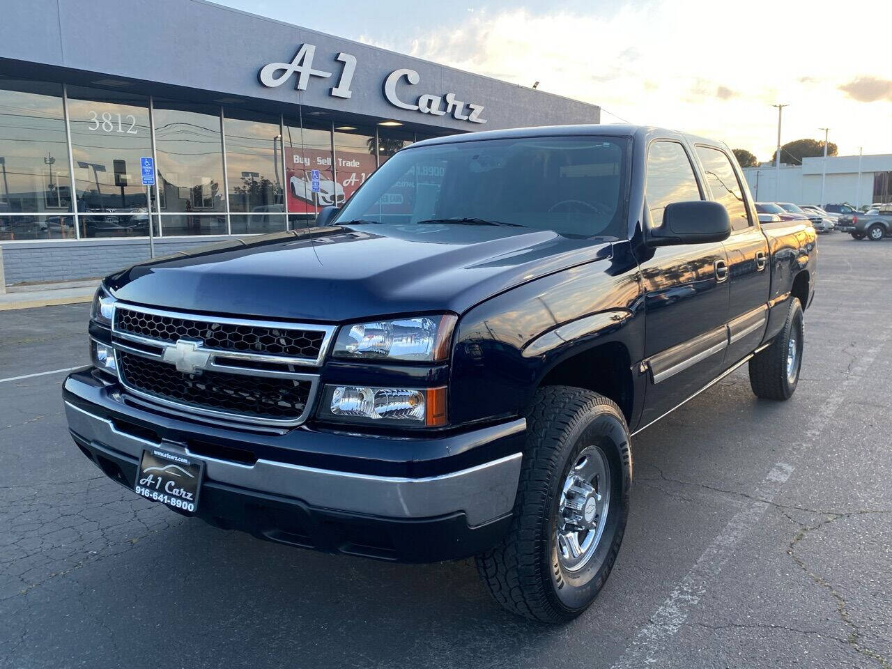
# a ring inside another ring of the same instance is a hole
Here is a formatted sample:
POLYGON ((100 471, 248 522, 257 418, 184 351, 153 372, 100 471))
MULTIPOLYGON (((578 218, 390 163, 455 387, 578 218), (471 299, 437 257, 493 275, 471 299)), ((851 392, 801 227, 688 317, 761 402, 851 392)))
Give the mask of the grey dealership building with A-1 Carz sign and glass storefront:
POLYGON ((596 105, 202 0, 89 7, 4 6, 3 285, 306 227, 425 137, 600 120, 596 105))

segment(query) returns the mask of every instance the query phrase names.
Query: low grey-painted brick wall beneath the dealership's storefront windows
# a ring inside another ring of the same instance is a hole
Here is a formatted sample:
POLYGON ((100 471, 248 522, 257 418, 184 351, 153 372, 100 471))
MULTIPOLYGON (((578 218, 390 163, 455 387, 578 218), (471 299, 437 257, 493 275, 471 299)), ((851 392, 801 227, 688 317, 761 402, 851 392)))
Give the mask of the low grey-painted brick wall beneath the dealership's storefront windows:
MULTIPOLYGON (((155 255, 191 249, 232 237, 173 237, 155 240, 155 255)), ((149 258, 148 239, 94 239, 89 241, 16 242, 0 244, 5 285, 33 281, 70 281, 104 277, 149 258)))

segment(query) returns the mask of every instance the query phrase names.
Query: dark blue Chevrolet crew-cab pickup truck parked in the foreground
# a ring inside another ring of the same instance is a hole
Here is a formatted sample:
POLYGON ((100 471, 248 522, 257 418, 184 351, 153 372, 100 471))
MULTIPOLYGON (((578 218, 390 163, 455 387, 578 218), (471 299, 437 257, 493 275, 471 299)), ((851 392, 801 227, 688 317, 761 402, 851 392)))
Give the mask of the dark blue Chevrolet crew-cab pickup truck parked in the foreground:
POLYGON ((581 614, 610 574, 634 434, 745 364, 761 398, 799 381, 814 229, 761 227, 733 154, 701 137, 428 139, 280 237, 105 277, 93 364, 63 387, 78 448, 263 539, 475 556, 536 620, 581 614))

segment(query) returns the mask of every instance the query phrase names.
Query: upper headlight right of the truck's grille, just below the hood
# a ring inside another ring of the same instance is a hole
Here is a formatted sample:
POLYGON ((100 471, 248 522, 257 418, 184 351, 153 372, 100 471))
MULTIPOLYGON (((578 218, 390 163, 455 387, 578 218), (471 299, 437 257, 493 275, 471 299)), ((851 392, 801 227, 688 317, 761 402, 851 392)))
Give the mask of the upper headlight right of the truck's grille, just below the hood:
POLYGON ((332 355, 336 358, 439 361, 449 358, 456 317, 419 316, 343 326, 332 355))

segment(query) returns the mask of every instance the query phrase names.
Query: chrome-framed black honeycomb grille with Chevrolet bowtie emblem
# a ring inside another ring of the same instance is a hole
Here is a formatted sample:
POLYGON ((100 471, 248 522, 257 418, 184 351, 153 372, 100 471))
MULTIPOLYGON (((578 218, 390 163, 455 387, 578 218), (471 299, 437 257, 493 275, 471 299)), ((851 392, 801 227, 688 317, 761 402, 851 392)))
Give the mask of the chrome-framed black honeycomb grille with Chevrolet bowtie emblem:
POLYGON ((116 302, 118 378, 163 407, 254 425, 300 425, 335 326, 222 318, 116 302))

